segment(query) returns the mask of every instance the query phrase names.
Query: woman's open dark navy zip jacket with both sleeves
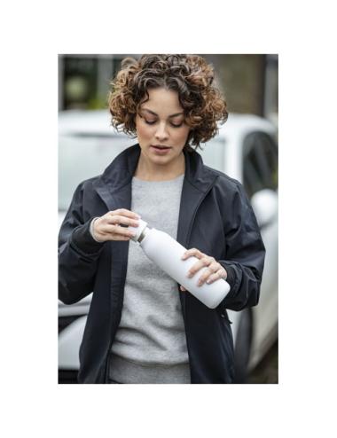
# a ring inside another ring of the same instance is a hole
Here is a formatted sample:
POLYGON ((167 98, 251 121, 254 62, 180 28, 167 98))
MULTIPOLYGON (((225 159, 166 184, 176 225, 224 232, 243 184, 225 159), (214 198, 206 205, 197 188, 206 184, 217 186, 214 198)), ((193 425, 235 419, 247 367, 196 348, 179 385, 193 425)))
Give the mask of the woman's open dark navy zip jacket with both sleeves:
MULTIPOLYGON (((120 153, 102 176, 80 184, 59 231, 59 299, 66 304, 93 292, 80 348, 80 383, 106 383, 110 350, 121 321, 129 241, 98 243, 93 216, 131 206, 131 179, 139 145, 120 153)), ((192 383, 233 381, 233 342, 226 309, 255 306, 264 246, 252 207, 238 181, 186 153, 177 241, 215 257, 228 272, 231 291, 208 309, 177 287, 182 302, 192 383)))

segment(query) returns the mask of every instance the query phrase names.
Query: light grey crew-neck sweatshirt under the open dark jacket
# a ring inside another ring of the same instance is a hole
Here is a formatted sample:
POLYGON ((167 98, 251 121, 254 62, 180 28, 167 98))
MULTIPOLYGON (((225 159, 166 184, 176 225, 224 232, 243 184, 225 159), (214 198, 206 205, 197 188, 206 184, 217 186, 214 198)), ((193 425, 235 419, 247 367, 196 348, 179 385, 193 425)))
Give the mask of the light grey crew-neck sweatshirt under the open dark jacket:
MULTIPOLYGON (((184 175, 160 182, 134 177, 131 210, 176 239, 183 181, 184 175)), ((132 240, 109 377, 120 383, 191 382, 176 281, 132 240)))

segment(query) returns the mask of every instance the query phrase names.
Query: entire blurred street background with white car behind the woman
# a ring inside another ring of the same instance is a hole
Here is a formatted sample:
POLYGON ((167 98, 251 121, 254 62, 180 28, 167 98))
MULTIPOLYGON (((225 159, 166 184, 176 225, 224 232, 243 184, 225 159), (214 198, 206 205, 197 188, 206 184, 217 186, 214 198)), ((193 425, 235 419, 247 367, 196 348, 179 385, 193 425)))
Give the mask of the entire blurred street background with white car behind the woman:
MULTIPOLYGON (((129 56, 141 55, 59 55, 59 225, 75 187, 137 143, 114 132, 106 101, 129 56)), ((229 312, 237 383, 278 383, 278 55, 200 56, 215 67, 230 113, 202 158, 244 184, 267 250, 259 305, 229 312)), ((75 383, 89 306, 90 296, 71 306, 59 301, 59 383, 75 383)))

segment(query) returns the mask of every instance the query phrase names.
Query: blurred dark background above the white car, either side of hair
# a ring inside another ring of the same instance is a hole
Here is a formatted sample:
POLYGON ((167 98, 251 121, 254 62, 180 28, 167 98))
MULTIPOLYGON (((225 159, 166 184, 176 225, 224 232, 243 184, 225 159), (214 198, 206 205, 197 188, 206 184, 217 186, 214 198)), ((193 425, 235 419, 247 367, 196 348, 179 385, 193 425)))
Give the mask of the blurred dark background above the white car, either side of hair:
MULTIPOLYGON (((139 54, 59 55, 59 111, 106 108, 109 82, 121 60, 139 54)), ((216 70, 229 110, 278 122, 278 55, 200 54, 216 70)))

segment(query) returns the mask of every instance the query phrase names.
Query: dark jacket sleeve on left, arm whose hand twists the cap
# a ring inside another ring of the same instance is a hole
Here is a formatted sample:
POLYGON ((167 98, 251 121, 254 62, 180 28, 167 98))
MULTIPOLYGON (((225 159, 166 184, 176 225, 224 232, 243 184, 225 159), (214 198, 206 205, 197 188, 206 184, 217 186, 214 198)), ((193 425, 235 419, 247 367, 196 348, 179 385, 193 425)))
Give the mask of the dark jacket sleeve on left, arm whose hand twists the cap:
POLYGON ((80 184, 59 231, 59 300, 65 304, 80 301, 92 292, 104 246, 91 237, 92 218, 83 219, 82 196, 80 184))

